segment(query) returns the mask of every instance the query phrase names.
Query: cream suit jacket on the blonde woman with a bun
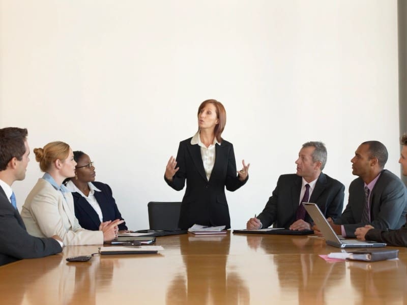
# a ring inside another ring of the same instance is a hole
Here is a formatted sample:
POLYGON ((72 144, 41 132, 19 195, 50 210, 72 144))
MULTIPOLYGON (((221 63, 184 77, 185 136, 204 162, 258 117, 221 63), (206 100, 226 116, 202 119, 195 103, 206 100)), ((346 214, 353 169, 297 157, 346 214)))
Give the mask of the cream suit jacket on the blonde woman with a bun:
POLYGON ((74 214, 72 194, 67 192, 62 195, 43 178, 38 179, 25 199, 21 218, 28 233, 38 237, 58 235, 66 246, 103 243, 102 231, 80 227, 74 214))

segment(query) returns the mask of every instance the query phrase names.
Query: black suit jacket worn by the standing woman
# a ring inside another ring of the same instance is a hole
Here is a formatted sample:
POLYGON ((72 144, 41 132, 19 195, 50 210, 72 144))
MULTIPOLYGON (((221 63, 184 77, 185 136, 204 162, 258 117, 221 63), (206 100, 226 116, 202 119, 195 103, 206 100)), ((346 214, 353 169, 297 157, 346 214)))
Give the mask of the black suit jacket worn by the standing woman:
POLYGON ((193 224, 206 226, 226 226, 230 228, 229 208, 227 206, 225 187, 235 191, 243 186, 236 173, 236 161, 233 145, 225 140, 215 144, 215 164, 208 181, 203 169, 200 146, 191 144, 191 139, 180 142, 177 154, 177 166, 180 168, 172 181, 167 184, 180 191, 187 189, 182 199, 179 228, 188 229, 193 224))

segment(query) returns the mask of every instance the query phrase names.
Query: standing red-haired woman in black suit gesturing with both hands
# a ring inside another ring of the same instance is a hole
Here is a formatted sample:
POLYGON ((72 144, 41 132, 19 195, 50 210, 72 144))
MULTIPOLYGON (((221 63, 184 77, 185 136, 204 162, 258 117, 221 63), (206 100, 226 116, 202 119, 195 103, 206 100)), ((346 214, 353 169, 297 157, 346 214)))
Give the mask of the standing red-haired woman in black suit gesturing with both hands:
POLYGON ((226 111, 220 102, 202 102, 198 132, 180 142, 177 159, 171 156, 168 161, 164 174, 167 184, 180 191, 187 180, 178 223, 181 229, 193 224, 230 228, 225 187, 233 192, 243 186, 250 164, 243 160, 243 169, 236 171, 233 145, 221 137, 225 124, 226 111))

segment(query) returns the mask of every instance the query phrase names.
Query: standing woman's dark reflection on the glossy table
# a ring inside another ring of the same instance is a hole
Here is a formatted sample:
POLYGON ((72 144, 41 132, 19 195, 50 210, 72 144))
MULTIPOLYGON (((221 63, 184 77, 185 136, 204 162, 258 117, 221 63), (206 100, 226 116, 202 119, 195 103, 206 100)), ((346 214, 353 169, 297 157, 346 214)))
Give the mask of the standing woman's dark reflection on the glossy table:
POLYGON ((184 273, 171 281, 167 304, 249 304, 250 293, 236 270, 228 270, 230 234, 180 239, 184 273))

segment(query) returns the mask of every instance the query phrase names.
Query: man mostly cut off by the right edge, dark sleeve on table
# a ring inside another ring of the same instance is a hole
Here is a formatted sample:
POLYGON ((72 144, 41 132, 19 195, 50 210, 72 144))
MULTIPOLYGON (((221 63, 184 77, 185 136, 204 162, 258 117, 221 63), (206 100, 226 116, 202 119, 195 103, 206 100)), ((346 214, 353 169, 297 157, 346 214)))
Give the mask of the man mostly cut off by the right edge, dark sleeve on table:
MULTIPOLYGON (((398 163, 401 164, 403 176, 407 176, 407 134, 401 137, 400 143, 403 145, 403 148, 401 149, 398 163)), ((357 228, 355 235, 361 240, 380 241, 386 242, 389 246, 407 247, 407 223, 398 230, 374 228, 371 225, 365 225, 364 227, 357 228)))

